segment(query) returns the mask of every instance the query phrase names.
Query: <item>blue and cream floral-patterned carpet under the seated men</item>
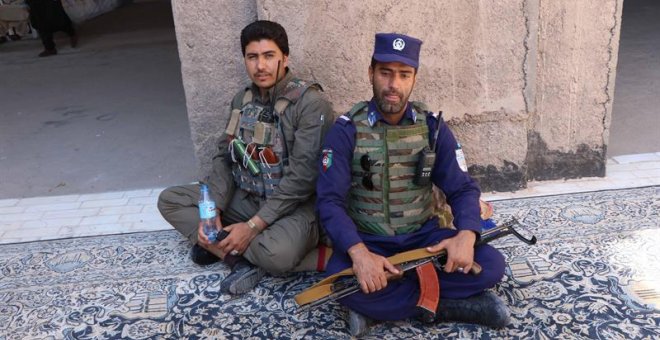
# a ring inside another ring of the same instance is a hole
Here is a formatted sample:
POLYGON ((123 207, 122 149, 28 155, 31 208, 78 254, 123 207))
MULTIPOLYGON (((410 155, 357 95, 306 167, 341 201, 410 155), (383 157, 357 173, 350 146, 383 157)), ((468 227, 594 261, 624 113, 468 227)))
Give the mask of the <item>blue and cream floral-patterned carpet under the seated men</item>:
MULTIPOLYGON (((660 187, 494 202, 539 242, 494 243, 503 330, 418 321, 374 325, 370 339, 660 338, 660 187)), ((347 339, 332 303, 296 314, 320 279, 267 276, 242 297, 218 293, 223 264, 202 268, 174 231, 0 246, 0 339, 347 339)))

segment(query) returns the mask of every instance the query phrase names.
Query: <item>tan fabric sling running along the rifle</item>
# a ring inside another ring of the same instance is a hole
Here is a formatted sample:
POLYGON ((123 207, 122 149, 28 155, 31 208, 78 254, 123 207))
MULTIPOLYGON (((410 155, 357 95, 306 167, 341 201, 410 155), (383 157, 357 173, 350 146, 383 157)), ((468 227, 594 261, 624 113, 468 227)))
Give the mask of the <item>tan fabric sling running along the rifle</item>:
MULTIPOLYGON (((388 257, 387 259, 390 261, 390 263, 396 266, 401 263, 424 259, 434 255, 438 255, 438 253, 430 253, 426 250, 426 248, 418 248, 403 253, 398 253, 396 255, 388 257)), ((298 306, 303 306, 308 303, 314 302, 316 300, 322 299, 332 294, 333 283, 338 278, 342 276, 353 276, 353 275, 355 275, 355 273, 353 272, 353 268, 346 268, 340 271, 339 273, 328 276, 325 279, 319 281, 317 284, 305 289, 300 294, 296 295, 294 297, 294 300, 296 301, 298 306)))

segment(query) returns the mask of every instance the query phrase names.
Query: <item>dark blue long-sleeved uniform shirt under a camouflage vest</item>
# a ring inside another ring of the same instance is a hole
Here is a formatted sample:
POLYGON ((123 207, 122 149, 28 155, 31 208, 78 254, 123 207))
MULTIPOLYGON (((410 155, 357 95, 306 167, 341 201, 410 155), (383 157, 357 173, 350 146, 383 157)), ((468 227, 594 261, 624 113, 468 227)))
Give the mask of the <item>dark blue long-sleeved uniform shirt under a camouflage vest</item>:
MULTIPOLYGON (((441 118, 429 114, 426 117, 417 117, 408 103, 400 125, 410 124, 416 119, 426 118, 429 127, 429 140, 435 137, 439 125, 436 145, 436 161, 431 172, 431 180, 447 197, 447 203, 452 208, 454 225, 459 230, 473 230, 479 235, 481 230, 481 217, 479 196, 481 195, 477 183, 463 172, 456 161, 456 139, 449 127, 441 118), (408 120, 406 122, 406 120, 408 120)), ((373 126, 380 122, 387 124, 376 109, 375 99, 369 102, 368 121, 373 126)), ((320 162, 317 188, 317 210, 321 223, 332 239, 335 250, 346 253, 348 249, 362 242, 361 233, 347 213, 347 198, 351 188, 351 160, 355 149, 355 124, 346 116, 337 119, 328 132, 323 143, 323 157, 320 162)), ((432 217, 424 227, 430 224, 438 225, 438 218, 432 217)), ((382 236, 398 238, 397 236, 382 236)), ((370 236, 373 238, 373 235, 370 236)))

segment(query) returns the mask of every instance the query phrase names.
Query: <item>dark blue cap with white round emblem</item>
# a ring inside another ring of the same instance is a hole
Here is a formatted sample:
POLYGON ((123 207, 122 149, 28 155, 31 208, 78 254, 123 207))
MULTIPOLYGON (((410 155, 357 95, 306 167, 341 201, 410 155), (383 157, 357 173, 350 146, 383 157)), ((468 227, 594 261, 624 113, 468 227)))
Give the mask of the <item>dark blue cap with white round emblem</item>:
POLYGON ((398 33, 377 33, 373 58, 382 63, 400 62, 417 69, 422 41, 398 33))

